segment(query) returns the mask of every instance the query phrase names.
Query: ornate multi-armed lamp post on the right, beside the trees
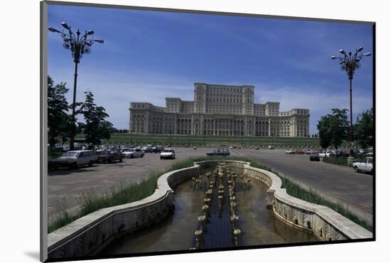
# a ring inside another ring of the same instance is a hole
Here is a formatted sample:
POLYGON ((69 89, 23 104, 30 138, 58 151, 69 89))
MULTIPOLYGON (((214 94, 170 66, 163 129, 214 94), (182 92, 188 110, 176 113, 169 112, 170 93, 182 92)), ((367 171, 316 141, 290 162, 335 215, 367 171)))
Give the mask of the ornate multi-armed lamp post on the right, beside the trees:
POLYGON ((370 52, 368 53, 361 53, 363 51, 363 47, 360 46, 355 50, 355 53, 353 54, 351 51, 349 53, 346 53, 345 50, 341 49, 339 50, 339 53, 341 53, 343 56, 335 56, 332 55, 331 59, 339 60, 339 65, 341 65, 341 70, 345 71, 348 75, 349 84, 350 84, 350 152, 349 152, 349 158, 348 158, 348 166, 351 166, 353 164, 353 102, 352 102, 352 80, 353 75, 355 73, 355 70, 358 70, 361 67, 360 60, 363 57, 369 57, 371 55, 370 52))

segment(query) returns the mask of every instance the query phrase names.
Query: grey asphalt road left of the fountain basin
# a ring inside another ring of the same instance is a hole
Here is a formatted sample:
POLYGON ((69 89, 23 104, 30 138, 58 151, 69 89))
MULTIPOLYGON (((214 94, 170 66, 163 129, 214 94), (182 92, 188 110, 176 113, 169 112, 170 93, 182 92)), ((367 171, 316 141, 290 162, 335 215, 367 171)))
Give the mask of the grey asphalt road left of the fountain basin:
POLYGON ((60 203, 67 203, 70 214, 77 213, 82 193, 105 193, 122 183, 136 183, 154 171, 164 171, 176 161, 191 156, 205 156, 211 149, 178 148, 175 160, 161 160, 159 154, 144 158, 124 159, 122 163, 99 163, 92 167, 63 169, 48 173, 48 218, 57 213, 60 203))

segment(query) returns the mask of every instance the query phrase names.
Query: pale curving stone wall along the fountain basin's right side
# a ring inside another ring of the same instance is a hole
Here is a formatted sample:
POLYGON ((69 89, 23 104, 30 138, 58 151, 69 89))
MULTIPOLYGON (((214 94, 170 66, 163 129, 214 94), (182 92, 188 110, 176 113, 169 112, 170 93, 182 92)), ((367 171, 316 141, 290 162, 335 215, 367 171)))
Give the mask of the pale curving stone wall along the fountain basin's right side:
POLYGON ((286 224, 312 232, 318 240, 370 239, 373 233, 324 205, 294 198, 281 188, 281 179, 272 172, 244 165, 245 172, 267 186, 267 207, 286 224))

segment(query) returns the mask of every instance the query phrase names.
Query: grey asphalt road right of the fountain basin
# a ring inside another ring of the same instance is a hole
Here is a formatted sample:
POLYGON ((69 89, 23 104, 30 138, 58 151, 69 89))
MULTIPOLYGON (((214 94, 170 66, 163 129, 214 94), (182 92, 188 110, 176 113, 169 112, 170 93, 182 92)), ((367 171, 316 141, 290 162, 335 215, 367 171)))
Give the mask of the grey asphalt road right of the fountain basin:
POLYGON ((345 205, 360 218, 373 221, 373 176, 353 168, 309 161, 308 155, 285 154, 284 149, 232 149, 240 156, 259 161, 280 175, 311 188, 324 198, 345 205))

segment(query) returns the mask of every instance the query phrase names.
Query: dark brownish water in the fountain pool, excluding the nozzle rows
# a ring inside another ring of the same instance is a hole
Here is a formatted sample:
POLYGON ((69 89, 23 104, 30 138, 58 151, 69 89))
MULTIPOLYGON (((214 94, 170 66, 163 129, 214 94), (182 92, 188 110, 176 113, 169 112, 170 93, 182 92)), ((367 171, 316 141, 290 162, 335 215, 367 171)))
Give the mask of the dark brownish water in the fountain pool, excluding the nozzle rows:
MULTIPOLYGON (((218 209, 218 190, 213 191, 209 209, 210 217, 200 248, 234 247, 232 224, 230 222, 227 182, 221 213, 218 209)), ((252 180, 250 190, 244 190, 239 176, 236 183, 235 214, 239 216, 236 227, 241 230, 239 246, 286 244, 294 242, 318 241, 309 232, 296 230, 274 217, 272 210, 266 209, 267 186, 252 180), (239 180, 238 180, 239 179, 239 180)), ((188 181, 175 190, 175 212, 155 227, 141 230, 112 242, 101 254, 131 254, 183 250, 195 247, 194 232, 200 229, 198 216, 202 215, 203 199, 206 197, 206 178, 203 177, 203 190, 193 190, 188 181)))

